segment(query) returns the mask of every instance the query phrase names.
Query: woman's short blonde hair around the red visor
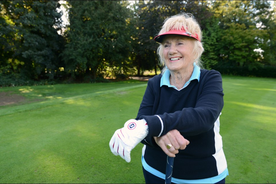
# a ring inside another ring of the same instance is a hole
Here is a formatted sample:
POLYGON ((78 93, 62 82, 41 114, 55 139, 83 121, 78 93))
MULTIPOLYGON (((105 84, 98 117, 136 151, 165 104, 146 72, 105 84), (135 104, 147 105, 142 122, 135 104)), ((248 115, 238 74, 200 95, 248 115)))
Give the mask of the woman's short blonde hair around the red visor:
MULTIPOLYGON (((166 18, 158 35, 168 32, 169 30, 183 30, 183 28, 186 31, 191 32, 193 35, 195 35, 195 33, 198 34, 198 38, 202 40, 202 31, 200 25, 198 24, 196 19, 193 18, 193 15, 188 13, 180 13, 175 16, 166 18)), ((200 68, 203 68, 202 62, 200 60, 200 57, 204 51, 203 44, 201 41, 198 41, 194 38, 191 38, 191 40, 193 41, 194 45, 193 51, 195 52, 196 56, 195 62, 200 68)), ((163 50, 164 44, 161 43, 157 49, 157 53, 159 55, 160 64, 164 66, 164 68, 162 69, 162 74, 164 74, 164 72, 167 70, 163 50)))

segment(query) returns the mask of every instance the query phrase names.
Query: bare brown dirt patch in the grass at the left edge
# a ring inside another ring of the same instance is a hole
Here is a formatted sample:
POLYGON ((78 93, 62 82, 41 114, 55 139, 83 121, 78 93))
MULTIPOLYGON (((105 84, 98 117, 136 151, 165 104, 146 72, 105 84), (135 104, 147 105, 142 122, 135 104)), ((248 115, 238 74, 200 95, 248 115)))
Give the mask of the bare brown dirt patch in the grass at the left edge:
POLYGON ((12 92, 0 92, 0 106, 17 104, 26 100, 23 96, 11 93, 12 92))

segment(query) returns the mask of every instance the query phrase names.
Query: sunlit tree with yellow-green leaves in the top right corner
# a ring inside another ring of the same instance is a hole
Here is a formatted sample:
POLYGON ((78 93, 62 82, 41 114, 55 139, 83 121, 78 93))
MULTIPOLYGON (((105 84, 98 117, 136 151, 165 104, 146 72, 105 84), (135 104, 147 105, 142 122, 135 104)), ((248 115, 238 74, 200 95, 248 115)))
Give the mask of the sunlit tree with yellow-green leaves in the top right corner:
POLYGON ((275 10, 269 1, 214 1, 212 7, 222 30, 217 40, 220 68, 250 72, 275 64, 275 10))

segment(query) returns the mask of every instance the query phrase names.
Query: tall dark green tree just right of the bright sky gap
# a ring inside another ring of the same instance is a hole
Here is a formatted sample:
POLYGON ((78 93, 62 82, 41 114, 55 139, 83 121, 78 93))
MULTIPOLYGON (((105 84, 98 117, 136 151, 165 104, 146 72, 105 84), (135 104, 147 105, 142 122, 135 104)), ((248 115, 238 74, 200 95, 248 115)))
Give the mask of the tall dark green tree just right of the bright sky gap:
POLYGON ((72 77, 120 76, 132 68, 132 14, 125 1, 68 1, 66 49, 62 53, 72 77))

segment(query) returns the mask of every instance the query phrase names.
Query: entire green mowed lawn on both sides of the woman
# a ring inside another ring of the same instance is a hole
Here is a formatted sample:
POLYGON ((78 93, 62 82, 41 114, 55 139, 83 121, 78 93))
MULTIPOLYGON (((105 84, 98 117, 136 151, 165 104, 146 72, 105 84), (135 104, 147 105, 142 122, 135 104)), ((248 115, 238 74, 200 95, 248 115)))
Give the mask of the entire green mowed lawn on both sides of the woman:
MULTIPOLYGON (((144 183, 109 141, 135 118, 147 82, 1 88, 26 97, 0 106, 0 183, 144 183)), ((223 76, 226 183, 276 182, 276 79, 223 76)))

